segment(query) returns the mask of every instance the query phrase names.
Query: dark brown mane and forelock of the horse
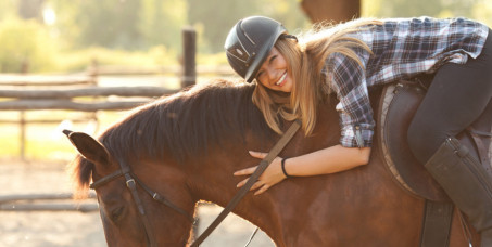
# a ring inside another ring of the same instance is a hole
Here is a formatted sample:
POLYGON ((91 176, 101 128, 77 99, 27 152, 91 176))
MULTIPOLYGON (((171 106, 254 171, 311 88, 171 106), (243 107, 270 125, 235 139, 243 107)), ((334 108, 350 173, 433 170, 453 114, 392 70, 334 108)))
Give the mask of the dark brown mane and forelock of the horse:
MULTIPOLYGON (((240 144, 247 131, 272 138, 276 133, 252 103, 254 87, 223 79, 194 86, 135 108, 108 128, 99 141, 115 157, 162 158, 165 151, 182 162, 222 146, 226 139, 240 144)), ((75 164, 79 184, 87 184, 93 165, 81 158, 75 164)))

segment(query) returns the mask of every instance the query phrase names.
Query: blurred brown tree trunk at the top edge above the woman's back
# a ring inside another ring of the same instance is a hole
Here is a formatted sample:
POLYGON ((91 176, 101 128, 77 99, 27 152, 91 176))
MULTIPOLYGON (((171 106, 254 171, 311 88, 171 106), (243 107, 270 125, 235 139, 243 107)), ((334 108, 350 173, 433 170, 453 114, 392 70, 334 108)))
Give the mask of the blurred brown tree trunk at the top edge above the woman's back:
POLYGON ((346 22, 361 16, 361 0, 302 0, 311 22, 346 22))

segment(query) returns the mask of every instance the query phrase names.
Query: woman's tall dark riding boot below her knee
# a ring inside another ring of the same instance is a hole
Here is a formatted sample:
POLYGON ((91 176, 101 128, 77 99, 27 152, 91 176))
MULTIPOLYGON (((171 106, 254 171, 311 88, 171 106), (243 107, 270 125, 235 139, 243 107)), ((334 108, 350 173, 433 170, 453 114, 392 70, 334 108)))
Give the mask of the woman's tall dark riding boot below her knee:
POLYGON ((455 138, 449 138, 426 164, 427 170, 492 247, 492 178, 455 138))

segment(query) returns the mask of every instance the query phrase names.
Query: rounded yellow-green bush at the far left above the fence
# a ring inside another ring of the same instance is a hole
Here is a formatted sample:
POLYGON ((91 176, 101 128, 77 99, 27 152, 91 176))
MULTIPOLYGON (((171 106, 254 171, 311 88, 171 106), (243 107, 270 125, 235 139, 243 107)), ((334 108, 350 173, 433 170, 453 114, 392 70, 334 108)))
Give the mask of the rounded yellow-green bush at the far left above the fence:
POLYGON ((50 70, 53 68, 55 40, 35 21, 9 18, 0 23, 0 70, 50 70))

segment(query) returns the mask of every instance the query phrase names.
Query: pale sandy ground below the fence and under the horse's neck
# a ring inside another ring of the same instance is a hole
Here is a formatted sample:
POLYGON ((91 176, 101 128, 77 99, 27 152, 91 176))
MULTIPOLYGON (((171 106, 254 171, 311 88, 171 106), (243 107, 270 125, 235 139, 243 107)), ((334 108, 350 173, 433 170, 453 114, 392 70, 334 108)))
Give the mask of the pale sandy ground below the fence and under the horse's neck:
MULTIPOLYGON (((68 193, 71 183, 65 162, 22 162, 0 160, 0 197, 13 194, 68 193)), ((72 202, 64 202, 72 203, 72 202)), ((93 199, 85 203, 96 204, 93 199)), ((1 206, 1 205, 0 205, 1 206)), ((199 232, 220 212, 217 206, 199 209, 199 232)), ((237 216, 225 222, 203 243, 203 247, 244 246, 255 226, 237 216)), ((0 210, 1 247, 100 247, 106 246, 97 211, 4 211, 0 210)), ((273 247, 272 240, 258 232, 251 247, 273 247)))

